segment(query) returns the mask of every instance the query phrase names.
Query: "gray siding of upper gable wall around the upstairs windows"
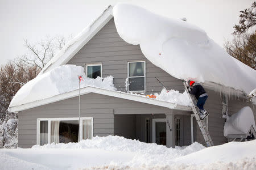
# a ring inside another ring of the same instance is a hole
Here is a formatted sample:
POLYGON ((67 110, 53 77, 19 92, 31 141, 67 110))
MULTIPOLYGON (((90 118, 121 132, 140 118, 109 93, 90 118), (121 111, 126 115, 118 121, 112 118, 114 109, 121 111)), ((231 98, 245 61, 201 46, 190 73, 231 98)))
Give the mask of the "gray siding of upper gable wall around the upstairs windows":
POLYGON ((139 45, 123 41, 117 33, 114 19, 111 19, 69 62, 85 66, 87 63, 102 62, 103 77, 112 75, 118 91, 126 91, 127 61, 146 61, 146 94, 160 92, 162 86, 155 76, 168 89, 184 91, 181 80, 174 78, 144 57, 139 45))

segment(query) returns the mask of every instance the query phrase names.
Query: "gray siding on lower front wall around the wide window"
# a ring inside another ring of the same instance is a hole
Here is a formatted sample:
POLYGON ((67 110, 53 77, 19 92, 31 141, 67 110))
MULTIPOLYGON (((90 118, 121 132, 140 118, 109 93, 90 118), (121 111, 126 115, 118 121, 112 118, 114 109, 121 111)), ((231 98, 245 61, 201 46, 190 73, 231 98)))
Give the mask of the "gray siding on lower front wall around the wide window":
MULTIPOLYGON (((164 114, 170 109, 93 93, 81 96, 81 117, 93 117, 93 136, 125 134, 129 138, 135 138, 134 114, 152 113, 154 110, 158 111, 155 114, 164 114), (119 109, 127 112, 120 112, 123 115, 114 115, 119 109), (121 129, 121 125, 125 125, 123 128, 127 129, 121 129)), ((63 117, 78 117, 78 97, 19 112, 19 147, 36 145, 37 118, 63 117)))

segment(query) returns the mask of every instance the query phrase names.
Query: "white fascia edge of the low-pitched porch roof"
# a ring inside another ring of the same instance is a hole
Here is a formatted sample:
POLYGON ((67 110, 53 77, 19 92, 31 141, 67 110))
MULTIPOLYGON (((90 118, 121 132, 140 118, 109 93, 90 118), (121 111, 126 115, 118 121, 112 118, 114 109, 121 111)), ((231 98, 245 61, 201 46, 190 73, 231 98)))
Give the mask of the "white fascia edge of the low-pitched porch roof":
MULTIPOLYGON (((85 94, 89 94, 89 93, 118 97, 121 99, 138 101, 141 103, 157 105, 160 107, 165 107, 165 108, 170 108, 170 109, 175 109, 175 110, 180 110, 180 111, 192 111, 191 107, 186 106, 186 105, 178 105, 178 104, 170 103, 167 101, 150 99, 150 98, 148 98, 146 96, 142 96, 142 95, 127 94, 126 92, 111 91, 111 90, 105 90, 103 88, 90 87, 90 86, 81 88, 81 95, 85 95, 85 94)), ((73 90, 70 92, 66 92, 64 94, 49 97, 47 99, 42 99, 42 100, 33 101, 31 103, 17 105, 14 107, 10 107, 9 109, 10 109, 10 112, 20 112, 20 111, 24 111, 26 109, 39 107, 41 105, 54 103, 56 101, 65 100, 65 99, 69 99, 69 98, 76 97, 76 96, 79 96, 79 90, 73 90)))

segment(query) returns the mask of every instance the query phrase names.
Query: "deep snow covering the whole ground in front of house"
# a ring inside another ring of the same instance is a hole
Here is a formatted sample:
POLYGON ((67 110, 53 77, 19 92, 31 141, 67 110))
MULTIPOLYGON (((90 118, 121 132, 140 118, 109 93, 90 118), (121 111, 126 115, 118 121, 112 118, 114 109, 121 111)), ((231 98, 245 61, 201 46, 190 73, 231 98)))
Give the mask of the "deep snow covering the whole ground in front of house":
POLYGON ((0 150, 0 169, 255 169, 256 140, 167 148, 118 136, 0 150))

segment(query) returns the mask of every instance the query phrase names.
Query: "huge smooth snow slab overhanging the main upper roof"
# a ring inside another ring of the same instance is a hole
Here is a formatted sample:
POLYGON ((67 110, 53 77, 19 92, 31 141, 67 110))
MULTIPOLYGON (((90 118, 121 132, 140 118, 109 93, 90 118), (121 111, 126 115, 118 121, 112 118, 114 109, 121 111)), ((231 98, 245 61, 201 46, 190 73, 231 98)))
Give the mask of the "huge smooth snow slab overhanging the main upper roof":
POLYGON ((249 94, 256 71, 234 59, 199 27, 164 18, 141 7, 113 8, 119 36, 140 45, 148 60, 178 79, 214 82, 249 94))

